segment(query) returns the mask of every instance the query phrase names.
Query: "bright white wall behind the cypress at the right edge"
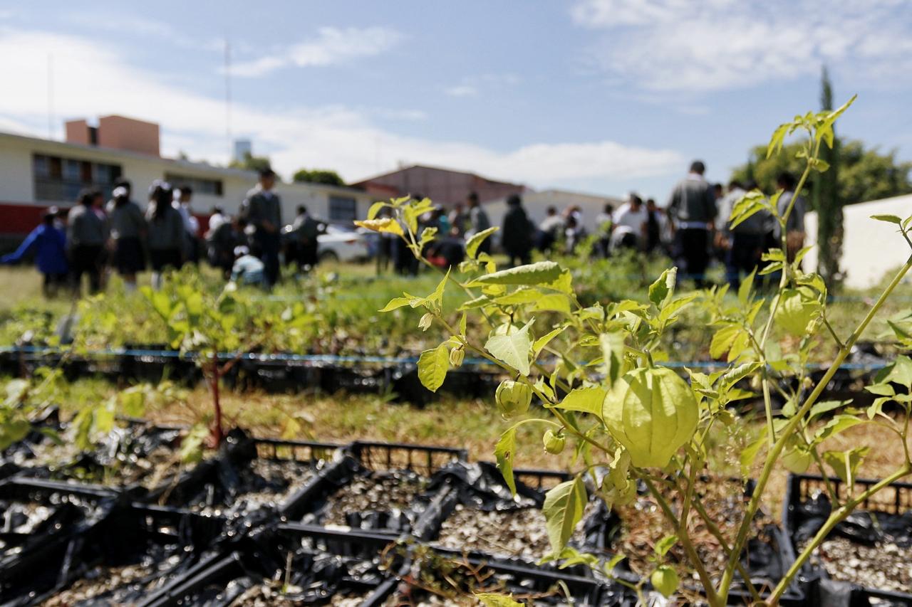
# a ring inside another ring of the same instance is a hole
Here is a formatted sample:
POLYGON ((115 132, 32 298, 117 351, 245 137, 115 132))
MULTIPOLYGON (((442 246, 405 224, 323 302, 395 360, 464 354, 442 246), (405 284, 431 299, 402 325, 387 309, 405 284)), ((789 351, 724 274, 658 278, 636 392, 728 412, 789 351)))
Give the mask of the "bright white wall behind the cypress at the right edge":
MULTIPOLYGON (((909 258, 912 251, 896 225, 871 219, 872 215, 896 215, 906 219, 912 215, 912 195, 897 196, 883 201, 850 204, 843 209, 843 256, 840 267, 845 272, 845 285, 866 289, 883 280, 909 258)), ((808 244, 817 243, 817 213, 804 218, 808 244)), ((805 267, 816 270, 818 250, 814 246, 804 258, 805 267)))

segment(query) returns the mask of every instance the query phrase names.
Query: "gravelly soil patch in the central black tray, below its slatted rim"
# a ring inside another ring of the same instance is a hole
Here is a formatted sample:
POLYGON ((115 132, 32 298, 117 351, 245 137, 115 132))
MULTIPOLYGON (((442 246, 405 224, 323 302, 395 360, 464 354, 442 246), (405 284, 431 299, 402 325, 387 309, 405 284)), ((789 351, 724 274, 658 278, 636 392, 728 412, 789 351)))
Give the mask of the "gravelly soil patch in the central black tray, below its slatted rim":
POLYGON ((416 498, 426 481, 410 475, 374 475, 353 479, 326 500, 323 524, 347 525, 351 512, 396 512, 419 509, 416 498))

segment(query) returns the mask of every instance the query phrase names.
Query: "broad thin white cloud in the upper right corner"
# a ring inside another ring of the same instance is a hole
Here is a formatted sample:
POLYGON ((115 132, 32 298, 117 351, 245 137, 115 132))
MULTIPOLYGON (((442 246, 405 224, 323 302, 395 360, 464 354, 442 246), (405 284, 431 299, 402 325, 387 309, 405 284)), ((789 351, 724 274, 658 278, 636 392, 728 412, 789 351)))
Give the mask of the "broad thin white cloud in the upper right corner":
MULTIPOLYGON (((575 23, 605 30, 595 62, 657 91, 706 91, 814 77, 907 74, 912 11, 897 0, 579 0, 575 23)), ((907 5, 905 5, 907 7, 907 5)))

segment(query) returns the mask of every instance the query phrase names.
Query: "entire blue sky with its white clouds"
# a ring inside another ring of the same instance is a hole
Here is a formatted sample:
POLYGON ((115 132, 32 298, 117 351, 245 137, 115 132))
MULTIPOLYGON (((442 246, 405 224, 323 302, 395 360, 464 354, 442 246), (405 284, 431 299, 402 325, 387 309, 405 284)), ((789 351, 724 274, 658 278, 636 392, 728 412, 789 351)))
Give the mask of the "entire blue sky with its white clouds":
POLYGON ((55 123, 150 119, 165 154, 225 162, 226 39, 233 135, 285 175, 426 163, 661 201, 816 108, 824 63, 859 94, 841 133, 912 157, 908 0, 4 2, 0 130, 47 136, 52 57, 55 123))

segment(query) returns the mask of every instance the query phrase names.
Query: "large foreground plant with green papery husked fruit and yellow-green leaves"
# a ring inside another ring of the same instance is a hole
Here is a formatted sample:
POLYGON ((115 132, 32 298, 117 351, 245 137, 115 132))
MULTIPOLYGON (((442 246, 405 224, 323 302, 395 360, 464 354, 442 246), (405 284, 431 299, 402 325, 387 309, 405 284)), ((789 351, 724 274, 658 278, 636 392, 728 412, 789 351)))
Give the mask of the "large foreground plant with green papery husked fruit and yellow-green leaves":
MULTIPOLYGON (((854 98, 853 98, 854 100, 854 98)), ((808 113, 780 126, 772 135, 768 153, 779 153, 788 136, 803 135, 805 169, 795 191, 801 192, 814 171, 827 170, 820 159, 822 146, 833 145, 833 125, 851 100, 832 112, 808 113)), ((644 485, 668 520, 673 535, 662 533, 656 546, 652 585, 663 594, 682 592, 679 571, 694 579, 711 605, 723 605, 729 598, 732 582, 740 575, 753 599, 776 603, 796 573, 839 520, 876 491, 912 471, 908 452, 897 462, 896 471, 875 486, 855 490, 853 478, 865 458, 865 448, 845 452, 824 450, 825 441, 849 427, 880 424, 895 432, 907 444, 908 408, 912 389, 912 361, 900 357, 877 377, 868 389, 880 396, 875 405, 858 411, 849 403, 821 402, 824 387, 845 361, 852 346, 912 268, 912 257, 896 273, 885 291, 870 306, 852 334, 836 334, 826 314, 826 285, 816 273, 806 273, 801 259, 803 249, 787 255, 786 222, 793 211, 792 201, 780 213, 782 192, 765 198, 752 191, 732 210, 732 225, 757 212, 772 215, 782 227, 781 248, 763 255, 760 274, 776 282, 773 293, 759 296, 754 276, 742 283, 738 293, 727 287, 702 293, 676 293, 676 271, 661 274, 648 288, 648 301, 604 301, 583 306, 577 298, 571 274, 555 262, 498 270, 492 257, 479 252, 479 244, 496 231, 492 228, 473 236, 466 243, 468 260, 458 271, 451 270, 430 294, 403 293, 383 311, 409 306, 424 311, 420 328, 437 324, 450 337, 420 356, 422 384, 436 391, 448 370, 461 365, 465 355, 482 357, 503 369, 509 378, 497 389, 497 406, 507 419, 517 419, 498 441, 495 457, 503 477, 514 488, 513 462, 517 445, 516 428, 525 424, 542 427, 544 448, 558 453, 573 448, 577 470, 574 478, 548 491, 544 515, 553 552, 549 560, 587 562, 591 556, 567 547, 576 524, 589 499, 587 473, 601 468, 595 486, 598 498, 609 507, 621 506, 637 497, 637 483, 644 485), (444 287, 452 283, 468 301, 459 307, 461 320, 452 323, 444 314, 444 287), (663 350, 662 336, 678 320, 682 310, 691 306, 708 315, 714 330, 712 355, 724 358, 727 366, 712 373, 678 370, 663 365, 672 353, 663 350), (557 322, 544 324, 544 317, 557 322), (467 319, 485 324, 488 333, 476 339, 466 331, 467 319), (808 374, 807 362, 815 349, 824 347, 822 339, 834 340, 838 352, 819 380, 808 374), (688 381, 689 380, 689 381, 688 381), (897 386, 901 386, 897 387, 897 386), (748 389, 750 388, 750 389, 748 389), (773 407, 773 393, 786 405, 773 407), (733 403, 746 398, 763 403, 762 435, 747 448, 734 440, 736 432, 720 431, 750 428, 750 418, 742 416, 733 403), (532 400, 541 403, 547 415, 530 409, 532 400), (882 406, 899 404, 899 414, 887 415, 882 406), (531 415, 529 415, 531 413, 531 415), (828 421, 823 421, 822 416, 828 421), (726 442, 726 441, 729 442, 726 442), (720 531, 701 499, 700 478, 713 473, 715 462, 731 449, 740 451, 742 474, 755 466, 761 468, 756 487, 746 500, 726 537, 720 531), (835 495, 832 514, 798 560, 773 588, 754 588, 742 571, 741 554, 751 535, 751 522, 764 503, 771 472, 777 464, 803 469, 814 462, 827 477, 842 478, 850 490, 847 496, 835 495), (725 555, 722 571, 710 571, 700 559, 691 537, 690 520, 702 520, 725 555), (671 562, 669 550, 679 546, 686 563, 671 562)), ((436 236, 433 228, 419 232, 419 217, 430 211, 428 200, 398 199, 378 202, 368 212, 367 221, 358 224, 404 239, 411 252, 424 262, 420 252, 436 236), (387 217, 378 218, 388 208, 387 217)), ((896 224, 897 238, 910 241, 912 217, 874 218, 896 224)), ((430 264, 429 264, 430 265, 430 264)), ((912 323, 896 323, 897 337, 912 345, 912 323)), ((596 478, 596 477, 594 477, 596 478)), ((617 559, 602 565, 611 574, 617 559)), ((637 592, 645 581, 635 585, 637 592)), ((485 597, 486 602, 491 601, 485 597)), ((505 600, 505 597, 504 597, 505 600)), ((507 604, 507 603, 503 603, 507 604)))

